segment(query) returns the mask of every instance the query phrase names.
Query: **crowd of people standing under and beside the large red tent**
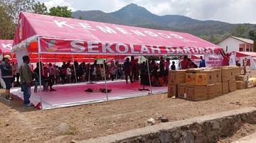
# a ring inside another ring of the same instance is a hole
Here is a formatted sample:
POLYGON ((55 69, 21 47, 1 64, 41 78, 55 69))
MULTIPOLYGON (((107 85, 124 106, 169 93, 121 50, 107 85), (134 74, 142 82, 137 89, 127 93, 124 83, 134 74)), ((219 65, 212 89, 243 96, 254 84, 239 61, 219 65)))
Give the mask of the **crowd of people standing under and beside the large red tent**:
MULTIPOLYGON (((204 59, 202 57, 201 59, 199 67, 205 67, 204 59)), ((56 91, 53 88, 55 84, 84 81, 92 83, 104 81, 105 79, 111 81, 125 79, 127 84, 140 81, 141 85, 167 86, 169 67, 171 67, 171 70, 176 70, 175 62, 170 63, 170 61, 170 58, 164 59, 164 57, 160 57, 159 63, 155 59, 147 59, 146 62, 139 63, 139 60, 132 56, 131 59, 127 57, 123 64, 119 64, 118 61, 111 61, 110 63, 104 61, 102 64, 99 64, 95 60, 93 64, 78 63, 77 61, 71 63, 68 61, 63 62, 61 66, 57 66, 52 63, 43 64, 38 62, 35 69, 30 69, 28 66, 30 62, 29 57, 23 57, 23 64, 18 68, 18 64, 10 64, 10 56, 6 55, 2 59, 0 67, 1 78, 4 79, 6 84, 6 101, 11 101, 12 99, 10 88, 16 79, 16 85, 21 86, 21 91, 24 94, 23 104, 28 106, 31 105, 29 101, 31 95, 30 87, 33 85, 32 81, 34 81, 35 76, 41 76, 41 81, 47 83, 46 90, 49 87, 49 91, 56 91), (31 73, 27 71, 31 71, 31 73)), ((180 67, 181 69, 195 68, 196 64, 191 62, 191 59, 187 56, 184 56, 180 67)))

